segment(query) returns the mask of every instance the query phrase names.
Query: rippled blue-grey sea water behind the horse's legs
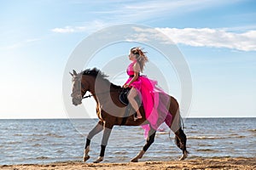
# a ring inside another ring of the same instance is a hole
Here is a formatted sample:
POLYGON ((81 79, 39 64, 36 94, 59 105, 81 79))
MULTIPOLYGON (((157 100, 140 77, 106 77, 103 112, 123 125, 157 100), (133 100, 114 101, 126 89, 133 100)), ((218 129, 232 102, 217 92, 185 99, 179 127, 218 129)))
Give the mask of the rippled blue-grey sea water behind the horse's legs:
MULTIPOLYGON (((0 165, 82 161, 86 135, 97 121, 0 120, 0 165)), ((256 156, 256 118, 187 118, 184 133, 189 158, 256 156)), ((99 156, 101 140, 102 133, 92 139, 88 162, 99 156)), ((128 162, 144 144, 143 128, 115 126, 104 162, 128 162)), ((163 126, 141 161, 171 161, 181 155, 174 133, 163 126)))

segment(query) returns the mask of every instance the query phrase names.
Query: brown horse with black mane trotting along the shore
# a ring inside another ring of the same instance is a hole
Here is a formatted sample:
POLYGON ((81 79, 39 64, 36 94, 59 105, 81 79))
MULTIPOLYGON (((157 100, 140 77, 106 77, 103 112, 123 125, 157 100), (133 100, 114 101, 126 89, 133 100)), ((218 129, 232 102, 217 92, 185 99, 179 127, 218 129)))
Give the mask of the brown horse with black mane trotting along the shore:
MULTIPOLYGON (((99 117, 99 122, 87 136, 86 144, 84 147, 84 161, 87 161, 90 158, 90 140, 97 133, 100 133, 103 130, 101 153, 97 160, 94 161, 98 163, 103 161, 105 149, 108 144, 108 138, 114 125, 140 126, 142 124, 148 124, 147 120, 145 119, 143 105, 141 105, 139 108, 139 111, 143 115, 143 119, 134 121, 133 114, 125 115, 125 109, 127 106, 119 101, 119 94, 123 88, 109 82, 106 78, 107 76, 103 74, 102 71, 94 68, 92 70, 87 69, 80 72, 79 74, 76 71, 73 71, 73 73, 70 74, 73 76, 73 93, 71 94, 73 97, 73 105, 82 104, 82 99, 84 98, 84 94, 87 91, 89 91, 90 94, 92 94, 91 96, 93 96, 93 98, 96 100, 96 113, 99 117)), ((168 117, 166 118, 166 124, 176 135, 175 139, 177 147, 183 150, 183 156, 180 158, 183 160, 188 156, 189 153, 186 149, 187 138, 183 133, 181 126, 181 116, 179 113, 177 100, 172 96, 169 96, 169 98, 171 102, 166 104, 166 107, 172 116, 169 117, 169 120, 168 117)), ((148 139, 146 144, 143 146, 143 150, 141 150, 131 161, 138 161, 138 159, 143 157, 149 146, 154 143, 154 136, 155 129, 150 126, 148 139)))

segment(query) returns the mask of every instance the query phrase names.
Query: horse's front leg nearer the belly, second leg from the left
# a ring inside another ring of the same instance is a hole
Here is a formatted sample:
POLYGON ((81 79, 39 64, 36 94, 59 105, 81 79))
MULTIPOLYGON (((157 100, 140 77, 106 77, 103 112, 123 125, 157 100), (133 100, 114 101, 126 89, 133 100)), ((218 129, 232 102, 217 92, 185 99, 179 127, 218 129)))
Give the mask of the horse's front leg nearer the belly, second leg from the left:
POLYGON ((113 128, 112 124, 105 122, 104 132, 103 132, 103 137, 102 137, 101 153, 100 153, 100 156, 97 158, 97 160, 94 161, 94 163, 99 163, 104 160, 105 149, 108 144, 108 139, 109 139, 110 133, 112 131, 112 128, 113 128))

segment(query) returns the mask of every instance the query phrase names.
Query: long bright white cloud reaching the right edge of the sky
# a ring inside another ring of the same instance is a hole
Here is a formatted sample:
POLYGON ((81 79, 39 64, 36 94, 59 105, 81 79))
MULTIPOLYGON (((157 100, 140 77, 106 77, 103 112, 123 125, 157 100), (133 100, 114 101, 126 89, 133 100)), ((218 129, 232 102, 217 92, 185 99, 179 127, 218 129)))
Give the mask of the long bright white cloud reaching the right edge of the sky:
POLYGON ((211 28, 156 28, 173 42, 194 47, 232 48, 241 51, 256 51, 256 31, 243 33, 211 28))

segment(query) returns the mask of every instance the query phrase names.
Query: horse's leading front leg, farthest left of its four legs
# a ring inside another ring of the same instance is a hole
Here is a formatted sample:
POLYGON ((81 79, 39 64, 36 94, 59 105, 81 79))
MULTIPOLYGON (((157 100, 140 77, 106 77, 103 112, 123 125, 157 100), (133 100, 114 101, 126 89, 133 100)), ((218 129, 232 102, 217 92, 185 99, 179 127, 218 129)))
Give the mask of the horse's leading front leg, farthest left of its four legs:
POLYGON ((89 156, 89 151, 90 151, 90 140, 97 134, 97 133, 100 133, 102 132, 103 130, 103 122, 102 121, 99 121, 97 124, 96 124, 96 127, 94 127, 90 133, 88 134, 87 136, 87 139, 86 139, 86 144, 85 144, 85 147, 84 147, 84 161, 87 161, 90 159, 90 156, 89 156))

